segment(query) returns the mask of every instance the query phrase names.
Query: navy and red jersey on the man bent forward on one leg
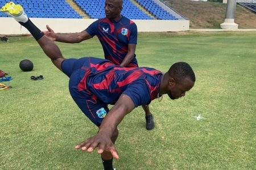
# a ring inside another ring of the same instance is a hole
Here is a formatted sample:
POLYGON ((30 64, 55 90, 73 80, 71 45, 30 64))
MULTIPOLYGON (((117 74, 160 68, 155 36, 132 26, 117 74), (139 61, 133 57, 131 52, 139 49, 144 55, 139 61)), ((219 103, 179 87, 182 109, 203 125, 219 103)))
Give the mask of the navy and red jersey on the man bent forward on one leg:
POLYGON ((79 91, 86 91, 92 99, 114 104, 121 94, 125 94, 138 107, 149 104, 160 91, 163 73, 158 70, 121 67, 101 58, 81 59, 83 65, 77 88, 79 91))

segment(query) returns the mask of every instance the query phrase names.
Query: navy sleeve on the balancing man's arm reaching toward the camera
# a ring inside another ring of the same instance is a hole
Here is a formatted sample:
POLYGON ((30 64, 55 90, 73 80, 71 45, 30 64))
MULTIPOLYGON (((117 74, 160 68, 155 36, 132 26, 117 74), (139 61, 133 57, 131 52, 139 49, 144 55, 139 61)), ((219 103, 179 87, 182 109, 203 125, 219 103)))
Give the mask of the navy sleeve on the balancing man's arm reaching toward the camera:
POLYGON ((135 107, 139 105, 147 105, 150 103, 150 91, 148 90, 148 86, 146 82, 134 82, 131 83, 127 89, 123 92, 123 94, 129 96, 135 107))

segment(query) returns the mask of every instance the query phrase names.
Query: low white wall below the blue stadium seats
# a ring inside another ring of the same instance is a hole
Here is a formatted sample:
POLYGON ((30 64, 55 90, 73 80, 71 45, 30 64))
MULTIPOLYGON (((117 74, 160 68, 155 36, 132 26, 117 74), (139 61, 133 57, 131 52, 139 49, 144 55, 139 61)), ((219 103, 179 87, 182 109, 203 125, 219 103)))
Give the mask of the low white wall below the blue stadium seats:
MULTIPOLYGON (((31 18, 41 30, 48 24, 56 33, 81 32, 96 19, 31 18)), ((133 20, 139 32, 188 31, 189 20, 133 20)), ((0 18, 0 35, 28 34, 13 18, 0 18)))

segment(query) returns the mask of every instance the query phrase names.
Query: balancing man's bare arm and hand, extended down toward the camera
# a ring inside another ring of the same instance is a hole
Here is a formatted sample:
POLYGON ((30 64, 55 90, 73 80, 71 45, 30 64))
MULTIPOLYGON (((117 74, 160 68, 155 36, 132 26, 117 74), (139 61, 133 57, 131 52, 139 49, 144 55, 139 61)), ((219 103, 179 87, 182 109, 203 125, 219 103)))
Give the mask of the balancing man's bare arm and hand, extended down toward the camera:
POLYGON ((101 123, 100 130, 94 137, 80 143, 75 148, 92 152, 94 148, 99 147, 98 154, 102 154, 104 150, 111 152, 113 158, 118 159, 118 152, 115 148, 111 137, 118 124, 123 120, 126 114, 134 109, 134 103, 127 95, 121 95, 115 103, 114 107, 109 111, 101 123))

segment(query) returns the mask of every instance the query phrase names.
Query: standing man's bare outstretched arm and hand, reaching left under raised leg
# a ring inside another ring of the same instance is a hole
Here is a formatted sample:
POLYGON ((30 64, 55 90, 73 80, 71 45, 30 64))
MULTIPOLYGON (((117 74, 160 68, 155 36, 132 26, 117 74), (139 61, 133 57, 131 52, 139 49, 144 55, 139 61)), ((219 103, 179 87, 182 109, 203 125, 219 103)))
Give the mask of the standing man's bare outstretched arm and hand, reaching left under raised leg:
POLYGON ((53 29, 49 27, 49 25, 46 25, 46 28, 48 29, 48 31, 43 31, 43 32, 52 41, 59 41, 59 42, 65 42, 65 43, 79 43, 81 41, 92 38, 92 36, 86 31, 82 31, 79 33, 60 34, 60 33, 55 33, 53 29))

